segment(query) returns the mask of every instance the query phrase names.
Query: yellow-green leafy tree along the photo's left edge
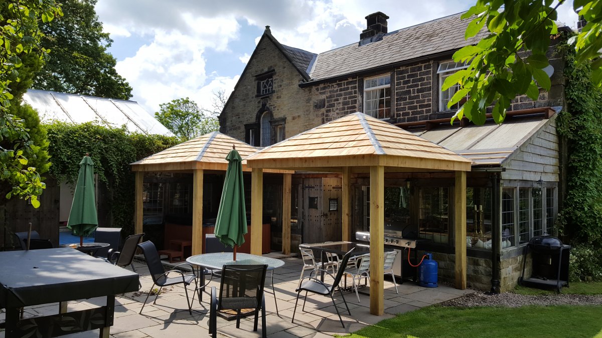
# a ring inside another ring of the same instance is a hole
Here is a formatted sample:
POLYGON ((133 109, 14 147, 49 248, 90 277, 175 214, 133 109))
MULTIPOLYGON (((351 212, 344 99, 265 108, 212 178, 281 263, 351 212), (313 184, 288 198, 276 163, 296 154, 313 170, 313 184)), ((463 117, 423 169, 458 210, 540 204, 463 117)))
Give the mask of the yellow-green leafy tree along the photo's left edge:
POLYGON ((34 144, 25 121, 11 114, 13 95, 11 82, 18 82, 19 55, 31 54, 42 59, 46 50, 41 48, 39 21, 49 22, 62 15, 54 0, 12 0, 0 3, 0 182, 8 185, 7 198, 16 195, 30 198, 34 207, 40 205, 37 196, 45 188, 40 174, 29 164, 36 158, 40 147, 34 144), (7 145, 6 141, 10 140, 7 145))

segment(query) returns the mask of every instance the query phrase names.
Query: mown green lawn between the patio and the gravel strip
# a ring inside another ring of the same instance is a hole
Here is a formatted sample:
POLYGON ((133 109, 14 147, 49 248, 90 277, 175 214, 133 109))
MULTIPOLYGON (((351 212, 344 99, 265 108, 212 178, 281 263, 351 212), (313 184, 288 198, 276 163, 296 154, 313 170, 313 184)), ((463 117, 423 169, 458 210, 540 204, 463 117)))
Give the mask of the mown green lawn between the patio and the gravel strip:
POLYGON ((602 306, 429 306, 346 337, 602 337, 600 318, 602 306))

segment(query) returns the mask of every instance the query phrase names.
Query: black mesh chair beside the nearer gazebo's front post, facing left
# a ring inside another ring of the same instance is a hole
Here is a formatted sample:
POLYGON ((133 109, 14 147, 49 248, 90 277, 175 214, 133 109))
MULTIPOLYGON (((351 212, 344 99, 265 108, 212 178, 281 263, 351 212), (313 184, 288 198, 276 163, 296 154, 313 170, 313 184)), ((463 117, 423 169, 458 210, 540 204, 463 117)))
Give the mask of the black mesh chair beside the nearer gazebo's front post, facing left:
MULTIPOLYGON (((353 248, 353 249, 355 249, 355 248, 353 248)), ((347 262, 349 262, 349 257, 351 256, 351 252, 353 251, 353 249, 349 250, 343 256, 343 259, 341 259, 340 266, 347 266, 347 262)), ((338 289, 339 292, 341 293, 341 297, 343 297, 343 302, 345 303, 347 312, 349 312, 349 315, 351 315, 351 311, 349 311, 349 306, 347 306, 347 301, 345 301, 345 296, 343 295, 343 291, 341 291, 341 288, 338 286, 338 284, 341 282, 341 277, 343 277, 344 273, 345 273, 345 269, 341 268, 341 269, 338 269, 337 275, 333 276, 332 274, 329 274, 329 272, 327 272, 326 270, 317 268, 317 269, 314 269, 311 272, 311 274, 309 274, 309 277, 303 278, 301 280, 301 285, 299 286, 298 289, 295 290, 295 291, 297 291, 297 300, 295 301, 295 309, 293 310, 293 319, 291 320, 291 323, 294 322, 294 320, 295 320, 295 312, 297 311, 297 303, 299 303, 299 295, 300 295, 301 291, 305 291, 305 297, 303 298, 303 309, 302 309, 303 311, 305 311, 305 301, 307 300, 308 292, 317 293, 318 295, 323 295, 323 296, 329 296, 330 299, 332 300, 332 304, 334 304, 334 306, 335 306, 335 310, 337 310, 337 315, 339 316, 341 325, 343 325, 343 327, 345 327, 345 324, 343 324, 343 318, 341 318, 341 314, 338 311, 337 303, 335 303, 335 299, 334 299, 334 297, 332 297, 332 294, 335 292, 335 290, 338 289), (314 276, 314 272, 318 272, 318 271, 321 271, 323 274, 330 275, 330 277, 332 277, 332 279, 334 279, 332 284, 324 283, 319 278, 317 278, 317 274, 315 274, 315 277, 312 277, 312 276, 314 276)))

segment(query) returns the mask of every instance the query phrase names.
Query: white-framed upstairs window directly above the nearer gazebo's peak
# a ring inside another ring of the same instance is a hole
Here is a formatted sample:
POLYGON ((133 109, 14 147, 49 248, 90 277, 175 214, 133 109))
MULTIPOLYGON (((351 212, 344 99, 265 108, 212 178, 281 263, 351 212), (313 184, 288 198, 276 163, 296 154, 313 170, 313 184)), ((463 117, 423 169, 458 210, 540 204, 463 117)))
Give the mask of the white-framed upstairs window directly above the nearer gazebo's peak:
POLYGON ((391 102, 390 73, 364 79, 364 114, 380 119, 389 118, 391 117, 391 102), (389 89, 389 96, 386 96, 386 88, 389 89), (376 98, 372 98, 373 93, 376 93, 376 98), (379 108, 381 103, 383 108, 379 108))

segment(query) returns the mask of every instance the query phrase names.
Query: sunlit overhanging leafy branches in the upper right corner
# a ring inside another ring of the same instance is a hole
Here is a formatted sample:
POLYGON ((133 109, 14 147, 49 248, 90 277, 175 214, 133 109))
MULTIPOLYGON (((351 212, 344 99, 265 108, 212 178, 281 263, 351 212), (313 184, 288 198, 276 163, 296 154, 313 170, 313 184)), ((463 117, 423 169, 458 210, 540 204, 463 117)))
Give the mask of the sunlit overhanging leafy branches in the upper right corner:
MULTIPOLYGON (((532 100, 539 95, 538 85, 550 89, 546 53, 550 37, 558 34, 554 20, 560 0, 477 0, 462 18, 471 18, 465 37, 473 37, 486 27, 488 34, 476 46, 466 46, 453 55, 456 62, 467 62, 468 69, 460 70, 445 79, 443 90, 454 84, 461 88, 448 106, 469 99, 458 109, 455 117, 485 123, 488 106, 494 105, 492 116, 501 123, 510 101, 526 94, 532 100)), ((573 10, 586 20, 579 35, 571 38, 578 63, 592 62, 592 81, 602 84, 602 0, 574 0, 573 10)))

